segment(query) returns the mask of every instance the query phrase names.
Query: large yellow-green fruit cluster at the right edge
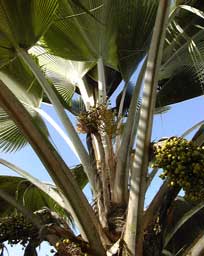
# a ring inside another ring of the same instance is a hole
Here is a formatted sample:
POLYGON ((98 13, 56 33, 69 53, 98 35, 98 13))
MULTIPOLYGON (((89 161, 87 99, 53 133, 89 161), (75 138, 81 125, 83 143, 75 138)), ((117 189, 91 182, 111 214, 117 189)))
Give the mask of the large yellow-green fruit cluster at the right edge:
POLYGON ((155 146, 153 167, 162 168, 162 179, 171 186, 180 186, 190 201, 204 200, 204 147, 192 141, 172 137, 155 146))

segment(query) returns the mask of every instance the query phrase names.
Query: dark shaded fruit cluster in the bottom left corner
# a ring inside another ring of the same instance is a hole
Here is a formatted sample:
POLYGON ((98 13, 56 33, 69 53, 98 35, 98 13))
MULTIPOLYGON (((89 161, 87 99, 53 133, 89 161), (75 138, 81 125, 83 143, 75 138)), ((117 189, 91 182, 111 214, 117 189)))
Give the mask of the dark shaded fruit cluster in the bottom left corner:
POLYGON ((8 241, 9 244, 22 244, 25 246, 38 235, 38 230, 27 219, 17 214, 11 217, 0 218, 0 242, 8 241))

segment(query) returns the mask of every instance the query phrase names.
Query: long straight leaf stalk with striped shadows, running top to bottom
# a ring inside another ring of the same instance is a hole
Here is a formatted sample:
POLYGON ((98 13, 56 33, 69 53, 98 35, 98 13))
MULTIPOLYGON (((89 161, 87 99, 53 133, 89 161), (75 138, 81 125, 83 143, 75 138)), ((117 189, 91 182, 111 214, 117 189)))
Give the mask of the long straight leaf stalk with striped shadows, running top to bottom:
POLYGON ((153 110, 156 100, 158 71, 164 44, 170 0, 160 1, 144 80, 144 92, 137 133, 136 153, 133 160, 130 199, 124 241, 132 255, 143 254, 143 209, 146 192, 148 155, 153 110))

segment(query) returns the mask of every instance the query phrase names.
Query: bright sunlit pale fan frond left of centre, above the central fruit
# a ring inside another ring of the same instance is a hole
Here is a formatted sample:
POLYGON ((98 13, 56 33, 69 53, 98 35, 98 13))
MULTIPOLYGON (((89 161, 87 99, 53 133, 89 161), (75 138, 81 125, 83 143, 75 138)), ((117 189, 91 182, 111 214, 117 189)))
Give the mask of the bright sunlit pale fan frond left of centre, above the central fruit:
POLYGON ((95 62, 66 60, 47 53, 42 47, 33 47, 29 52, 38 58, 46 77, 55 86, 65 108, 68 108, 75 88, 82 90, 82 79, 95 62))

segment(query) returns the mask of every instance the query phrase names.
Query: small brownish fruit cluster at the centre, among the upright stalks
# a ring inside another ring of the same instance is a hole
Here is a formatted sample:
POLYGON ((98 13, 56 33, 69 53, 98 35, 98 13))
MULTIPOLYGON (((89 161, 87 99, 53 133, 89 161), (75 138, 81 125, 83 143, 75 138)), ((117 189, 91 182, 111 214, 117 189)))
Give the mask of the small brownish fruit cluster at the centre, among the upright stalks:
POLYGON ((108 109, 107 103, 91 107, 89 111, 81 112, 78 117, 77 130, 81 133, 103 131, 112 135, 116 127, 115 113, 108 109))

